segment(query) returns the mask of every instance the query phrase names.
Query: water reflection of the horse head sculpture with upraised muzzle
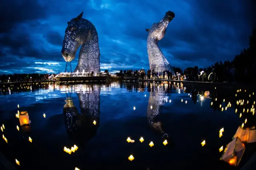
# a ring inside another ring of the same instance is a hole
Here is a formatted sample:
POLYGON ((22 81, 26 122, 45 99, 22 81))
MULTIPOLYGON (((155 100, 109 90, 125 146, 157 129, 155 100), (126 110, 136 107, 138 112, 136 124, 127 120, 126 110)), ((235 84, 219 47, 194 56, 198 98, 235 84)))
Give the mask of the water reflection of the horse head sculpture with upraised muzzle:
POLYGON ((164 88, 158 83, 148 83, 150 96, 148 99, 147 119, 150 127, 162 135, 162 138, 167 139, 169 136, 162 129, 162 123, 156 121, 156 117, 161 113, 161 106, 168 102, 168 96, 164 88))

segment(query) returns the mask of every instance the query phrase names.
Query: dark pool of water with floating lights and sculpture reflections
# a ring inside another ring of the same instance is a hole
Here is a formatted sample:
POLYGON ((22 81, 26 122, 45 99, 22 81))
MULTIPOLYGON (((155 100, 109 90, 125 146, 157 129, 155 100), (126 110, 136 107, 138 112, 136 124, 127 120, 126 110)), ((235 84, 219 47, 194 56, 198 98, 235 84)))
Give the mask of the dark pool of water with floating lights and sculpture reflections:
POLYGON ((245 119, 245 127, 255 124, 246 113, 255 95, 245 89, 129 82, 21 87, 26 91, 3 88, 0 95, 0 132, 8 140, 0 140, 0 149, 20 162, 18 169, 218 169, 219 148, 245 119), (18 111, 28 112, 30 126, 20 125, 18 111), (64 152, 74 145, 78 150, 64 152))

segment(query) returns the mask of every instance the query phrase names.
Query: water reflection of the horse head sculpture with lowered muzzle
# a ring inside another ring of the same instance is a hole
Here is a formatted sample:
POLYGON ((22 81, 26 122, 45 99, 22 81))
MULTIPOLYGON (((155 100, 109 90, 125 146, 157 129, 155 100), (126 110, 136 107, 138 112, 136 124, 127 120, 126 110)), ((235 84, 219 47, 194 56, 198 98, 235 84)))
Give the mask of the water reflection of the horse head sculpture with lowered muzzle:
MULTIPOLYGON (((63 108, 68 136, 78 143, 84 144, 96 135, 100 125, 100 87, 89 85, 81 89, 78 95, 81 114, 72 101, 71 95, 65 100, 63 108)), ((72 94, 72 93, 70 93, 72 94)))

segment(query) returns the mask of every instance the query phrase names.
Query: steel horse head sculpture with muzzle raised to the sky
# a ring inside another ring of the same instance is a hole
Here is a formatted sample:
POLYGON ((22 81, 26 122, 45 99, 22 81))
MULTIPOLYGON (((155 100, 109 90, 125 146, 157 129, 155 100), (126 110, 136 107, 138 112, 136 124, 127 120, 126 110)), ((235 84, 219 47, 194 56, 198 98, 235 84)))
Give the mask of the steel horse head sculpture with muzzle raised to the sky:
POLYGON ((174 16, 173 12, 168 11, 162 20, 158 23, 154 23, 150 29, 146 29, 146 31, 149 32, 147 40, 149 66, 151 70, 154 69, 154 71, 158 71, 158 73, 169 70, 172 72, 172 75, 175 75, 174 68, 158 47, 158 41, 164 38, 166 28, 174 16))

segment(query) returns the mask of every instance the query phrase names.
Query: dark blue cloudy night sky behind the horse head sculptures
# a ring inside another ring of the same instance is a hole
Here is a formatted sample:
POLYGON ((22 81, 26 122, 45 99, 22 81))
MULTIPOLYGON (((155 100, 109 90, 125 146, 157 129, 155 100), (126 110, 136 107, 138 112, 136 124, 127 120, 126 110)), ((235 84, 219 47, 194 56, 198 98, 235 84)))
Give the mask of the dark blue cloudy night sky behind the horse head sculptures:
MULTIPOLYGON (((253 8, 250 0, 3 0, 0 74, 63 72, 67 22, 82 11, 98 31, 101 70, 148 69, 145 29, 168 10, 175 18, 159 41, 164 55, 182 69, 207 67, 248 47, 253 8)), ((73 68, 77 61, 78 52, 73 68)))

